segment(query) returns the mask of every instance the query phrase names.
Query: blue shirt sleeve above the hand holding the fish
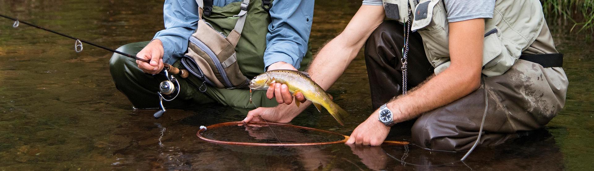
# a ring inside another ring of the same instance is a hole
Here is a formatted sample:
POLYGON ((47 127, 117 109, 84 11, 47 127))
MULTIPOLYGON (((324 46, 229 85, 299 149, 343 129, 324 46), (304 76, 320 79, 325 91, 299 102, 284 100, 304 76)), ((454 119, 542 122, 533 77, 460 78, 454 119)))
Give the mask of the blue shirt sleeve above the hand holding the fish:
MULTIPOLYGON (((264 66, 287 62, 299 68, 307 52, 314 1, 276 0, 270 9, 264 66)), ((265 69, 266 69, 265 68, 265 69)))

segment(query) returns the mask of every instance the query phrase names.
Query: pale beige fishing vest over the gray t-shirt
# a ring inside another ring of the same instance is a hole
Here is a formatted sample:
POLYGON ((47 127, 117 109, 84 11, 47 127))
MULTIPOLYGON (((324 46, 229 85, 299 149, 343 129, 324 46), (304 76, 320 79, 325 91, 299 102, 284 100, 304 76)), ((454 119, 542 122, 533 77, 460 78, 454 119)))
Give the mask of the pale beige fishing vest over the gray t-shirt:
MULTIPOLYGON (((448 20, 441 0, 383 0, 386 17, 406 23, 408 4, 412 12, 411 30, 423 39, 425 53, 435 67, 435 74, 450 66, 448 20)), ((538 0, 495 1, 492 18, 485 18, 482 74, 488 77, 504 74, 541 33, 545 23, 538 0)), ((546 30, 548 31, 548 30, 546 30)), ((547 34, 550 36, 550 34, 547 34)))

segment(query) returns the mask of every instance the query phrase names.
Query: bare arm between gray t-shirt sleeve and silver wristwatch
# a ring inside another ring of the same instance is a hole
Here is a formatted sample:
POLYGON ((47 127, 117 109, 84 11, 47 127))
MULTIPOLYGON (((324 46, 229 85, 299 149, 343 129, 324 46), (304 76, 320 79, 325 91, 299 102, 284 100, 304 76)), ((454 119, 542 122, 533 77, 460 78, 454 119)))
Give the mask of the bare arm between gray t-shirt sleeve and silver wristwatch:
POLYGON ((406 96, 391 100, 388 108, 396 110, 394 122, 416 118, 480 87, 484 29, 482 18, 450 23, 450 67, 406 96))

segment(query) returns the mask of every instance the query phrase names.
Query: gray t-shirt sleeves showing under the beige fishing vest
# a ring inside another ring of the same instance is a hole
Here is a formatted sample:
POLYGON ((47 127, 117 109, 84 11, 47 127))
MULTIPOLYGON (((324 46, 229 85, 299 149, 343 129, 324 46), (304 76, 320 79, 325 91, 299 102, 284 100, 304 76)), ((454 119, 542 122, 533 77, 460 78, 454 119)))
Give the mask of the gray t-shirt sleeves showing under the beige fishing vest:
MULTIPOLYGON (((443 0, 449 22, 492 18, 495 0, 443 0)), ((363 0, 363 5, 383 5, 381 0, 363 0)))

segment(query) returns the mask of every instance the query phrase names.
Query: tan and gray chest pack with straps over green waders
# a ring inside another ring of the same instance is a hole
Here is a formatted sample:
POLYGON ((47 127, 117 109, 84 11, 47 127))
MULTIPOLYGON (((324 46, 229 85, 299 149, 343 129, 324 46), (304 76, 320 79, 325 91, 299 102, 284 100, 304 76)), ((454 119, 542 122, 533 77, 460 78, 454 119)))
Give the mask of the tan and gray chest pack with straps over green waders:
MULTIPOLYGON (((247 87, 249 79, 239 69, 235 47, 244 29, 249 0, 241 2, 241 11, 235 15, 238 17, 235 28, 228 35, 213 29, 203 20, 203 1, 196 2, 200 7, 198 9, 200 20, 198 20, 197 30, 189 37, 188 53, 182 58, 182 64, 192 75, 203 81, 203 84, 217 88, 247 87)), ((200 87, 204 86, 200 85, 200 87)))

